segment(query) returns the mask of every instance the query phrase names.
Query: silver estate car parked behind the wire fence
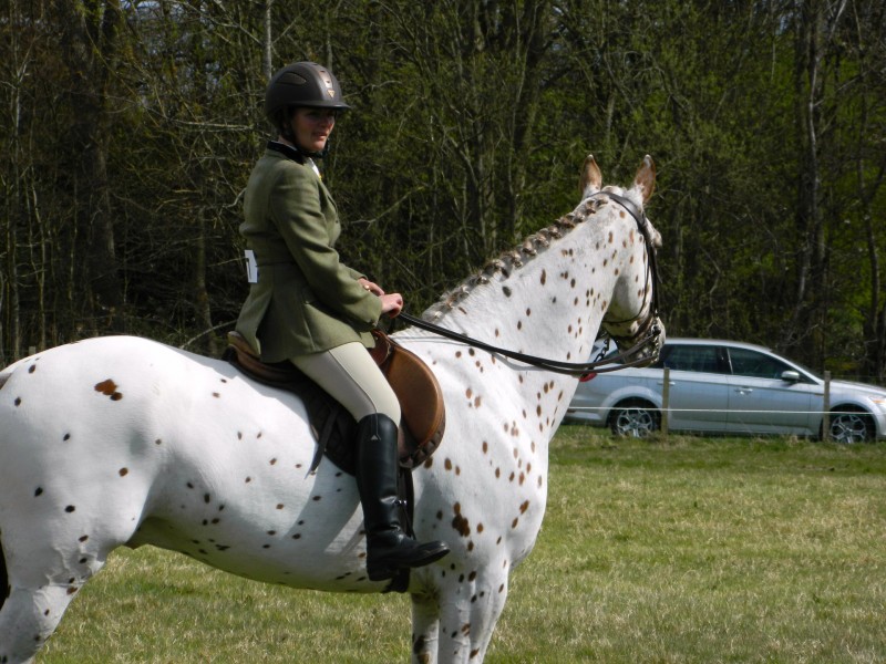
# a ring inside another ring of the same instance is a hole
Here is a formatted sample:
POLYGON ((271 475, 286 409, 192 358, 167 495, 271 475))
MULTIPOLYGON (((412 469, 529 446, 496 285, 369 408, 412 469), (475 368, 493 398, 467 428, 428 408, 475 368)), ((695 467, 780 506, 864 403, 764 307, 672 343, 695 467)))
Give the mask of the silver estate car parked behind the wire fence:
MULTIPOLYGON (((769 349, 711 339, 668 339, 652 366, 579 383, 567 422, 636 437, 659 429, 664 367, 670 430, 822 436, 823 378, 769 349)), ((886 390, 831 381, 828 409, 832 439, 886 438, 886 390)))

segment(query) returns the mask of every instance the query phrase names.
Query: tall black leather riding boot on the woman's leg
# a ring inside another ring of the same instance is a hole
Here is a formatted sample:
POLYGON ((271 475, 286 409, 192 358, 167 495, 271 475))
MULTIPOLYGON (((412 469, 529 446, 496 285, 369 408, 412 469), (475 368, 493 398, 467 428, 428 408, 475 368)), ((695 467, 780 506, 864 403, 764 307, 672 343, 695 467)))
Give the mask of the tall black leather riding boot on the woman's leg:
POLYGON ((420 543, 400 523, 396 425, 379 414, 363 417, 357 426, 357 488, 363 505, 370 581, 392 579, 403 568, 440 560, 450 552, 446 544, 420 543))

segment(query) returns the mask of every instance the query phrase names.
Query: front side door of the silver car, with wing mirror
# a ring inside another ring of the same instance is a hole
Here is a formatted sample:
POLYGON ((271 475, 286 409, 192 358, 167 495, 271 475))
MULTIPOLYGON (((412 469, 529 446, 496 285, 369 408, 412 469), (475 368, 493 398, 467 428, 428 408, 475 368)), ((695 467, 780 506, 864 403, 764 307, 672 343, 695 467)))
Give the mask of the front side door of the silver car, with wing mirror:
POLYGON ((729 378, 730 430, 751 434, 812 432, 813 392, 817 385, 804 381, 793 366, 773 355, 752 349, 727 350, 732 367, 729 378), (785 371, 794 372, 800 380, 784 380, 785 371))

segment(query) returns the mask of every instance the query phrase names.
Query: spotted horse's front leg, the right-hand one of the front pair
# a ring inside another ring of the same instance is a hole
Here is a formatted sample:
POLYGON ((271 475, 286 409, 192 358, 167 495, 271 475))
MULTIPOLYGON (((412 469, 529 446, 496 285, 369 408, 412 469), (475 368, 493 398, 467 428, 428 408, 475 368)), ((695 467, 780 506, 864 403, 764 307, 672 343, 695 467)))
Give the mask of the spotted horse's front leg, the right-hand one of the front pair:
POLYGON ((507 568, 447 577, 440 589, 440 664, 480 663, 507 599, 507 568))

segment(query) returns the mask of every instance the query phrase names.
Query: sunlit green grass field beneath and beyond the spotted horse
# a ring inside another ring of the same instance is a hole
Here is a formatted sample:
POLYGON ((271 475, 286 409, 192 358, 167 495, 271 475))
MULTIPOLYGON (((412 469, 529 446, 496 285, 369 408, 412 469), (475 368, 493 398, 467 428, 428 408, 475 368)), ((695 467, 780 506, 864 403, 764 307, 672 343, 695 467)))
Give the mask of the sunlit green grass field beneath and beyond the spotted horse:
MULTIPOLYGON (((564 426, 487 663, 886 662, 886 448, 564 426)), ((40 663, 409 661, 409 600, 115 553, 40 663)))

